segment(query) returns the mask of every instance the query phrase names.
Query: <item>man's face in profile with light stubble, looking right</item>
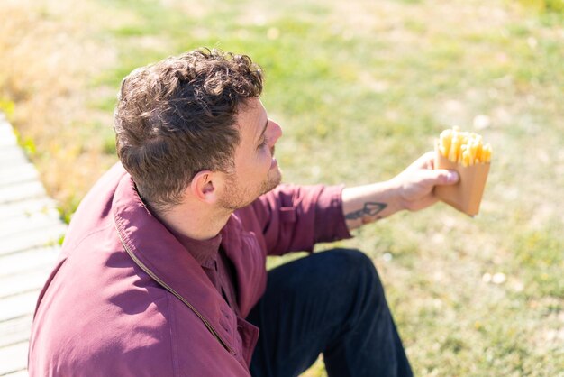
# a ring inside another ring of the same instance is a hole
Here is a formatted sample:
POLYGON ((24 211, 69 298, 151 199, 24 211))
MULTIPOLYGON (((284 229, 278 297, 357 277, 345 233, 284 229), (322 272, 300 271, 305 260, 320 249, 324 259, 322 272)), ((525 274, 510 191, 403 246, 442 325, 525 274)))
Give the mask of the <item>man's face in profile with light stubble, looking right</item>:
POLYGON ((277 187, 282 173, 274 158, 274 145, 282 136, 280 126, 268 119, 259 98, 250 98, 237 116, 240 143, 235 148, 234 172, 227 176, 220 205, 235 210, 248 206, 277 187))

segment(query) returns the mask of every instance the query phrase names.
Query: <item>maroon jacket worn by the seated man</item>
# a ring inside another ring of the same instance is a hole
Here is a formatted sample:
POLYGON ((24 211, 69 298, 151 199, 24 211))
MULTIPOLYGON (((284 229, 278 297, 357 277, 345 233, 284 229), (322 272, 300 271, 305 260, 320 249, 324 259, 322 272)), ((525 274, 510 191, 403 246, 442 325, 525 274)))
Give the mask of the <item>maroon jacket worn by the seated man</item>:
MULTIPOLYGON (((189 215, 187 215, 189 216, 189 215)), ((241 317, 116 165, 78 207, 41 291, 30 376, 248 376, 267 254, 348 237, 341 187, 280 186, 222 232, 241 317)))

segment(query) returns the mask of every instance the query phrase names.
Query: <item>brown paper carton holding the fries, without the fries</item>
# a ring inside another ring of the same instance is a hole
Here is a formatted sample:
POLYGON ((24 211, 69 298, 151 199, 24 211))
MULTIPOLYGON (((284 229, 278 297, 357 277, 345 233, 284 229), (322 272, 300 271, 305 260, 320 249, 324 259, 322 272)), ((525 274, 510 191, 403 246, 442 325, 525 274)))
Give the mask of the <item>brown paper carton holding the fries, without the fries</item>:
POLYGON ((435 186, 435 196, 468 216, 477 215, 486 187, 489 165, 478 163, 465 167, 450 161, 435 148, 435 169, 456 170, 459 173, 456 185, 435 186))

